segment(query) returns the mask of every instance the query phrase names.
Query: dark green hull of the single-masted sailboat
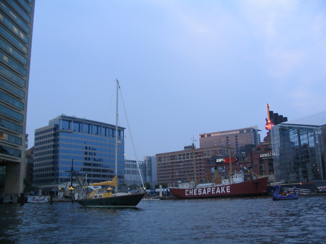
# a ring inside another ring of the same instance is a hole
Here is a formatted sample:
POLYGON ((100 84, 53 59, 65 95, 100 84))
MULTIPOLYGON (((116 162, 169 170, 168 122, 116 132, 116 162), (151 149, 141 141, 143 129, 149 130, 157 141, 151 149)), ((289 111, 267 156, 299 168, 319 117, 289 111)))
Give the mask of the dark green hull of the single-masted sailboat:
POLYGON ((135 207, 144 195, 145 193, 96 199, 79 199, 76 202, 84 207, 135 207))

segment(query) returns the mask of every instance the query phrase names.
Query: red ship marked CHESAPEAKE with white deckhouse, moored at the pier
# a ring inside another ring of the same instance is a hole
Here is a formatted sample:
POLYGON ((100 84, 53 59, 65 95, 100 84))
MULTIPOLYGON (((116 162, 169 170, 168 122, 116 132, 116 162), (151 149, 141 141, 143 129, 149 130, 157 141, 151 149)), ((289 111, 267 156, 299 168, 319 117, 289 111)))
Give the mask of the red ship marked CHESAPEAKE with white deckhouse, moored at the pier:
POLYGON ((181 183, 178 186, 170 187, 170 192, 176 198, 233 198, 233 197, 259 197, 266 194, 268 176, 253 180, 244 181, 242 173, 231 175, 222 179, 220 184, 207 183, 198 184, 195 182, 181 183))

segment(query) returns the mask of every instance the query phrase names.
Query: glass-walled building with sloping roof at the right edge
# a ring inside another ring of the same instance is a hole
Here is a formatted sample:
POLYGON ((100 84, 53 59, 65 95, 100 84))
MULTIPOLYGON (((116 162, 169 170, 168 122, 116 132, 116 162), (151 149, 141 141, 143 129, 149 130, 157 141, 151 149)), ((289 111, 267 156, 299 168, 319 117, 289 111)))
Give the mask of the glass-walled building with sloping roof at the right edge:
POLYGON ((276 125, 271 130, 275 181, 325 179, 326 111, 276 125))

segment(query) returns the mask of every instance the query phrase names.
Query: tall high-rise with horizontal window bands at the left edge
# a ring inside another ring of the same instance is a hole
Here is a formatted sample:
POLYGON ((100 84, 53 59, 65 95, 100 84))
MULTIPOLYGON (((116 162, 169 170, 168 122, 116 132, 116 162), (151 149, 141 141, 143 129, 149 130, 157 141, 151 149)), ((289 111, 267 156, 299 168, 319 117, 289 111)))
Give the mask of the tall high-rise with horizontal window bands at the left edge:
POLYGON ((8 194, 23 190, 34 4, 0 0, 0 192, 8 194))

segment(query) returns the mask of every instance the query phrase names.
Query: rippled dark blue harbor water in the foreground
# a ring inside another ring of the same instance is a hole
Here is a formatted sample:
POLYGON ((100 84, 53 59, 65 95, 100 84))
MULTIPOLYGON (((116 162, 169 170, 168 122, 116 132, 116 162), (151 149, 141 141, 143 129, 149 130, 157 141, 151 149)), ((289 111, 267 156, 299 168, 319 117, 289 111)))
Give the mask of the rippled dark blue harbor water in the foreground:
POLYGON ((325 243, 326 196, 0 205, 0 243, 325 243))

